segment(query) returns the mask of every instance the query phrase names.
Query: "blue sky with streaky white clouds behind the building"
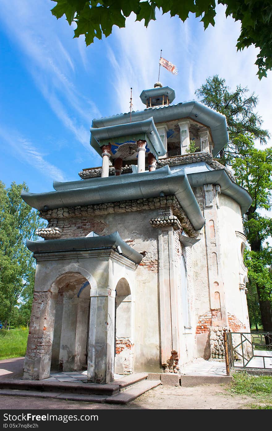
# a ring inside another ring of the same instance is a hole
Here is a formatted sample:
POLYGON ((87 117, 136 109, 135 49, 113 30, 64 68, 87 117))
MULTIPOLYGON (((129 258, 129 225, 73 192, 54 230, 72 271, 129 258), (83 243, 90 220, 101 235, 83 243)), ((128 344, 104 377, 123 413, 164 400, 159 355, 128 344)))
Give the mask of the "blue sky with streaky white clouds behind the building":
MULTIPOLYGON (((177 76, 161 68, 160 81, 174 88, 174 103, 195 99, 194 91, 215 74, 234 88, 259 95, 258 112, 270 129, 272 73, 258 80, 257 50, 236 52, 239 23, 217 8, 216 25, 204 32, 193 15, 183 24, 161 15, 148 29, 130 16, 126 28, 95 40, 73 39, 73 28, 50 9, 50 0, 1 0, 0 180, 25 181, 31 192, 52 190, 54 179, 79 179, 83 168, 101 166, 89 145, 93 118, 144 109, 139 95, 158 78, 160 50, 177 76)), ((271 145, 271 141, 269 142, 271 145)))

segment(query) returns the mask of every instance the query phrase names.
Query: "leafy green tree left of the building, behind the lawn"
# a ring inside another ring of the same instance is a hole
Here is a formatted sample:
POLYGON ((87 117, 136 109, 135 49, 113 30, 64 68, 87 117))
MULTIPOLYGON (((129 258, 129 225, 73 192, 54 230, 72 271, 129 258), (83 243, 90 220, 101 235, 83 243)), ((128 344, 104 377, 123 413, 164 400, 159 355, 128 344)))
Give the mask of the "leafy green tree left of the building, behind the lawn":
POLYGON ((16 319, 18 306, 32 301, 35 259, 25 247, 43 226, 37 211, 21 199, 26 184, 6 188, 0 181, 0 320, 4 327, 16 319))

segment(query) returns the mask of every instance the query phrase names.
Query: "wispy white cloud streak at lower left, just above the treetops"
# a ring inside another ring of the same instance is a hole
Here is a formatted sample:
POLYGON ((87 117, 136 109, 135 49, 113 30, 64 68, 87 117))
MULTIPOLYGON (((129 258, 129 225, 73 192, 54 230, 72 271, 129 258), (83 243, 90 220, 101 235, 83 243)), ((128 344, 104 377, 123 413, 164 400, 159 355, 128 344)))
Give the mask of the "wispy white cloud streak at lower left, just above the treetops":
POLYGON ((49 163, 44 158, 37 147, 25 137, 20 136, 15 131, 8 131, 0 126, 0 137, 9 147, 12 147, 14 156, 20 161, 24 161, 28 165, 37 169, 41 174, 53 180, 64 181, 65 176, 61 169, 57 168, 52 163, 49 163))

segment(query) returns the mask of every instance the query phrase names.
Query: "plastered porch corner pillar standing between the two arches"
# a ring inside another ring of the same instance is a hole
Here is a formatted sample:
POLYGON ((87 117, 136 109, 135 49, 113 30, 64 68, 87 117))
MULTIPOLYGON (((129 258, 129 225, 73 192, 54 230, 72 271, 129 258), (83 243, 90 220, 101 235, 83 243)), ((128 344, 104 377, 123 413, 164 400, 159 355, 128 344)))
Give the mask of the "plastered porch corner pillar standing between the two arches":
POLYGON ((110 383, 114 380, 114 313, 115 290, 91 289, 88 347, 89 382, 110 383))

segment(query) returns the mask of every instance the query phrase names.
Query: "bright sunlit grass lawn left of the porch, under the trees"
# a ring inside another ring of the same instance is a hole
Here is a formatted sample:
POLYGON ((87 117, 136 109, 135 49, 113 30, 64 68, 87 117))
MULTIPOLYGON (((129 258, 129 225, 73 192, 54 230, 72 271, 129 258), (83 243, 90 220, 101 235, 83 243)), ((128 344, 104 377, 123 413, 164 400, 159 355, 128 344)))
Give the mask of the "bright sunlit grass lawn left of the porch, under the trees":
POLYGON ((0 329, 0 359, 24 356, 27 341, 28 329, 0 329))

